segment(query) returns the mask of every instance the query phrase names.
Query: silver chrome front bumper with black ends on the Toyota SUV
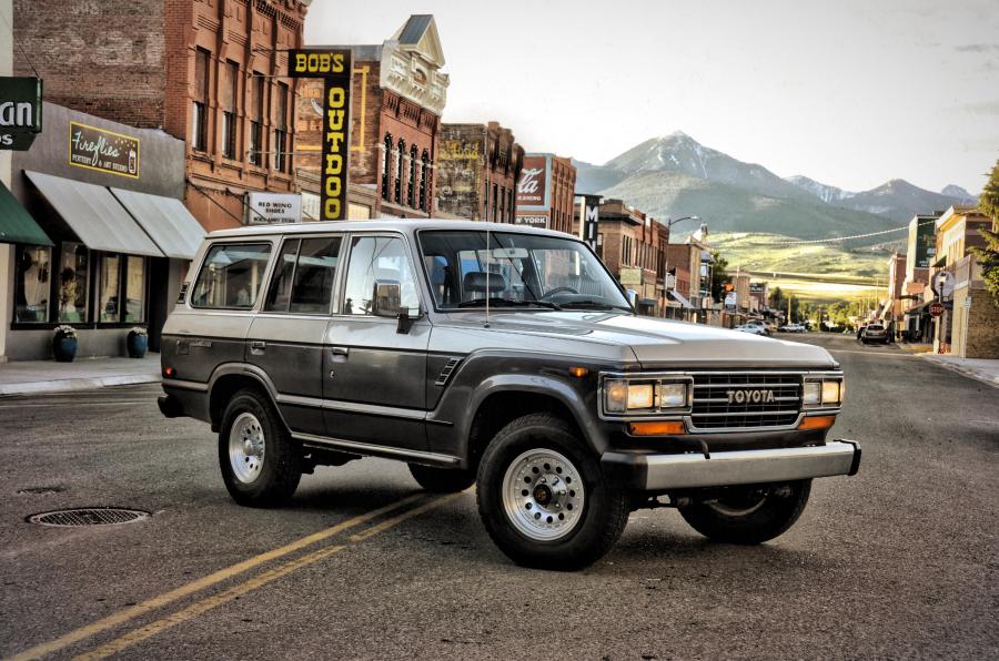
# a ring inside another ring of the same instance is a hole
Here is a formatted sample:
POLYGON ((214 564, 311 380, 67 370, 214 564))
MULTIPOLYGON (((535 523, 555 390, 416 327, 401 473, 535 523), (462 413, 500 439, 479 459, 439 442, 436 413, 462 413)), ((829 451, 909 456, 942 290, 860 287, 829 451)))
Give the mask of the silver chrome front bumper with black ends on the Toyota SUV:
POLYGON ((601 457, 601 466, 615 484, 640 491, 784 482, 856 475, 860 444, 839 439, 823 446, 708 455, 608 451, 601 457))

